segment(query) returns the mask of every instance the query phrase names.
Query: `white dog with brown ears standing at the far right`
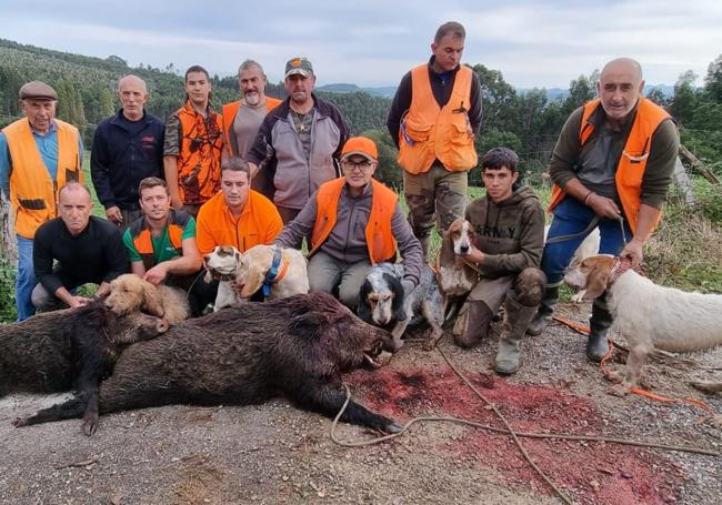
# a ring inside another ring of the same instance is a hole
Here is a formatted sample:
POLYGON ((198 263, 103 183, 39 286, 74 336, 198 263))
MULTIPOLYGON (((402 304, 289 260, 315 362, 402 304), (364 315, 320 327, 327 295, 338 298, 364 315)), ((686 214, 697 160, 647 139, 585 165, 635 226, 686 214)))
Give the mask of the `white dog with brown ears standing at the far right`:
POLYGON ((613 329, 629 344, 626 366, 610 380, 611 391, 624 395, 639 385, 648 355, 705 351, 722 345, 722 294, 689 293, 654 284, 606 255, 586 257, 568 271, 564 282, 584 290, 582 301, 609 292, 613 329))

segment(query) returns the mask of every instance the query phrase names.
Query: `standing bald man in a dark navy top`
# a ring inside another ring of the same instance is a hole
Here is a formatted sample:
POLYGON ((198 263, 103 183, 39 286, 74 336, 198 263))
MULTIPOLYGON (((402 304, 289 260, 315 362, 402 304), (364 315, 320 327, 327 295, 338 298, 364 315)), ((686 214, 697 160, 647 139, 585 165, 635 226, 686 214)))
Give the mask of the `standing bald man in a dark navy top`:
POLYGON ((138 184, 163 175, 166 124, 144 109, 146 81, 126 75, 118 81, 122 108, 98 124, 90 153, 90 174, 106 216, 121 230, 141 216, 138 184))

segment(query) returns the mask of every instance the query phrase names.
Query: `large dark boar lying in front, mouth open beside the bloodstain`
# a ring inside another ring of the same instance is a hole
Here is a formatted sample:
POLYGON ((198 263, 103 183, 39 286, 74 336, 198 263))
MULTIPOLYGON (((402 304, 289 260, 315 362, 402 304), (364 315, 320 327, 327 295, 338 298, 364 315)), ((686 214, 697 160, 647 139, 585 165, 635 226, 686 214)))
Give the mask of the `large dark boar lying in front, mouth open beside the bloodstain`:
MULTIPOLYGON (((341 373, 369 364, 390 335, 325 293, 224 309, 172 326, 127 349, 100 387, 100 412, 167 404, 247 405, 284 395, 334 416, 345 400, 341 373)), ((40 411, 42 421, 77 417, 70 400, 40 411)), ((382 432, 389 418, 350 402, 341 420, 382 432)))

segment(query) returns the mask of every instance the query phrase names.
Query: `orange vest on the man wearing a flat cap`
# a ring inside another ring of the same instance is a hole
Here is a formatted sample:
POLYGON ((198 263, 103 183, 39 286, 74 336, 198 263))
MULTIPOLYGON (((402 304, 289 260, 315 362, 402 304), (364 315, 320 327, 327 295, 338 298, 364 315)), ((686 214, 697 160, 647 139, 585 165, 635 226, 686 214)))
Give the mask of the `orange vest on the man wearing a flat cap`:
POLYGON ((10 123, 2 130, 8 140, 12 170, 10 202, 16 215, 18 235, 32 240, 36 230, 58 215, 58 190, 68 181, 83 181, 78 152, 78 129, 60 120, 58 127, 58 172, 50 179, 27 119, 10 123))

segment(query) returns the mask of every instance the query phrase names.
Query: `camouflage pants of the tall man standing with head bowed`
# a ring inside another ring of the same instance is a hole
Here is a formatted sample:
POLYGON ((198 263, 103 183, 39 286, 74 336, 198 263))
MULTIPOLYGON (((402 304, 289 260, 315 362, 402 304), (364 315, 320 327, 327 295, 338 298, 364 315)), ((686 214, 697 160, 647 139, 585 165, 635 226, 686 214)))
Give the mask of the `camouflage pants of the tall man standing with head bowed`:
POLYGON ((409 205, 409 223, 421 242, 424 256, 434 226, 443 233, 467 208, 467 172, 450 172, 434 165, 425 173, 403 172, 403 194, 409 205))

